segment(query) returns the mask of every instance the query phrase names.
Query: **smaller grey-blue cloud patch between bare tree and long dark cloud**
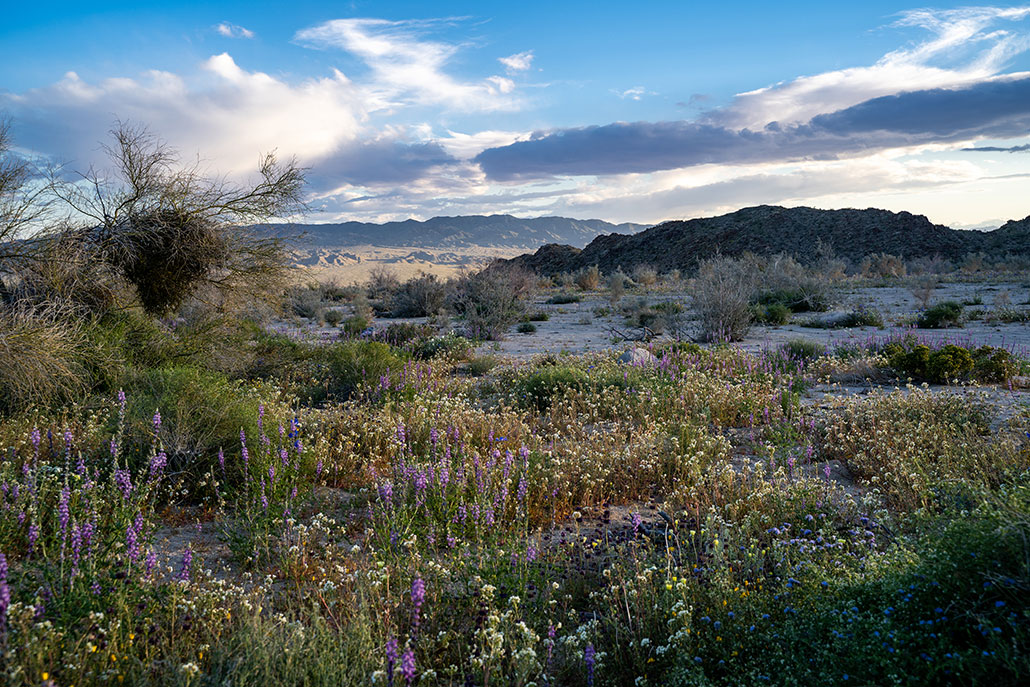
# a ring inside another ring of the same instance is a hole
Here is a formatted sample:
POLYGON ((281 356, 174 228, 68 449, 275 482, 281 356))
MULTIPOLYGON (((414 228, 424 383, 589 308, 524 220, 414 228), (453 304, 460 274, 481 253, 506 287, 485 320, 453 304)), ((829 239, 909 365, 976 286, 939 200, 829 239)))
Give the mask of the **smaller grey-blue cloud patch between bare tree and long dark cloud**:
POLYGON ((332 190, 353 185, 396 184, 414 181, 439 167, 458 161, 439 143, 407 143, 377 139, 347 145, 312 166, 312 186, 332 190))

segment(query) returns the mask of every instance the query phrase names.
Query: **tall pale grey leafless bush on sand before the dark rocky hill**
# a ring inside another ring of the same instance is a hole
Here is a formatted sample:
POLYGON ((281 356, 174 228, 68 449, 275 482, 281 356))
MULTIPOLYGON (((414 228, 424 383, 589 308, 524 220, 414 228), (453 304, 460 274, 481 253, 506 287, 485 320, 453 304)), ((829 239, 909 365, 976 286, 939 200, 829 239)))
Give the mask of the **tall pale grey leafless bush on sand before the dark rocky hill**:
POLYGON ((746 261, 713 257, 700 264, 691 293, 702 341, 740 341, 751 327, 756 272, 746 261))

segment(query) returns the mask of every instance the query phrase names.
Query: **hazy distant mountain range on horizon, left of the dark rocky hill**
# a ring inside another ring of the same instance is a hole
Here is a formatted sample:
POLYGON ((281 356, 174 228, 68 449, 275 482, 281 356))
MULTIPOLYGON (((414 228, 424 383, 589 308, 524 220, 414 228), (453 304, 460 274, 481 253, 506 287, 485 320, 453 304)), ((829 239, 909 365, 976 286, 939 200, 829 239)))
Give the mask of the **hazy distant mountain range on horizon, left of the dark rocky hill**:
POLYGON ((407 219, 381 225, 365 221, 287 225, 286 231, 303 234, 303 245, 314 248, 377 245, 535 249, 548 243, 585 246, 598 236, 631 234, 647 227, 631 222, 615 225, 600 219, 553 216, 523 219, 510 214, 493 214, 433 217, 424 221, 407 219))

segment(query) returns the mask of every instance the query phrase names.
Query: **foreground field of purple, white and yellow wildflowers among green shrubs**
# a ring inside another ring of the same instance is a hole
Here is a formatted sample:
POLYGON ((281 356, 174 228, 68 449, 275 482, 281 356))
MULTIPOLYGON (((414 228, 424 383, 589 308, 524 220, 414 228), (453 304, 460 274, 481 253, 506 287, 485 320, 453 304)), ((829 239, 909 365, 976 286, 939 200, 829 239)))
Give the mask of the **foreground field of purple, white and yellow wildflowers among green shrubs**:
POLYGON ((166 363, 0 423, 7 684, 1030 671, 1030 417, 991 387, 812 404, 842 353, 483 373, 453 335, 247 337, 235 375, 166 363))

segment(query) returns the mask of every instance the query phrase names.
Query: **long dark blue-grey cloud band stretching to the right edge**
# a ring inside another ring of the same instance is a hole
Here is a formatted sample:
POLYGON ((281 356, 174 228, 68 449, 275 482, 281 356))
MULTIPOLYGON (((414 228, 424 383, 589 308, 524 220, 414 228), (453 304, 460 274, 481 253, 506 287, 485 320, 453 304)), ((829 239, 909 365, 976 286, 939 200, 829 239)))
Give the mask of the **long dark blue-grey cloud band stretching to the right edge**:
POLYGON ((1030 131, 1030 78, 874 98, 799 126, 760 131, 638 122, 542 133, 476 157, 494 179, 654 172, 705 164, 833 160, 904 145, 1030 131))

